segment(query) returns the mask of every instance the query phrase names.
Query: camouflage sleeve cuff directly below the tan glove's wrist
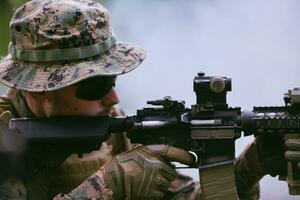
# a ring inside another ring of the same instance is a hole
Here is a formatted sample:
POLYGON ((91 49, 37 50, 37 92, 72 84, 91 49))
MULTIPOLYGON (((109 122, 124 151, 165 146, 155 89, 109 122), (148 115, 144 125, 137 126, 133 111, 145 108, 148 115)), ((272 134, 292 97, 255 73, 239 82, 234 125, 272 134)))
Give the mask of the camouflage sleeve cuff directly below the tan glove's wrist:
POLYGON ((113 199, 112 190, 103 181, 101 170, 91 175, 69 194, 58 194, 53 200, 109 200, 113 199))

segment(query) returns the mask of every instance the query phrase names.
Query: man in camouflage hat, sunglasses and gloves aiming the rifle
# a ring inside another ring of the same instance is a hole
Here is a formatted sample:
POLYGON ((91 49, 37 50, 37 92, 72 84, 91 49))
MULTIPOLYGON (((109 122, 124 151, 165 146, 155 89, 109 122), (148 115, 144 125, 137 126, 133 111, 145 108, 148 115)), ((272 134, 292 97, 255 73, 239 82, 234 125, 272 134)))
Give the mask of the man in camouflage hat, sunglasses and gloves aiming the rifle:
MULTIPOLYGON (((120 115, 116 76, 135 69, 145 51, 116 39, 102 5, 30 1, 16 11, 10 28, 9 55, 0 61, 0 82, 10 87, 1 98, 2 131, 11 117, 120 115)), ((266 146, 257 140, 235 167, 241 198, 259 198, 257 182, 272 171, 265 161, 283 152, 260 156, 258 144, 266 146)), ((177 174, 170 164, 192 164, 189 153, 168 145, 132 148, 121 134, 83 158, 57 155, 49 160, 37 152, 32 160, 26 176, 0 183, 0 199, 201 198, 199 183, 177 174)), ((284 161, 280 156, 272 162, 278 160, 284 161)))

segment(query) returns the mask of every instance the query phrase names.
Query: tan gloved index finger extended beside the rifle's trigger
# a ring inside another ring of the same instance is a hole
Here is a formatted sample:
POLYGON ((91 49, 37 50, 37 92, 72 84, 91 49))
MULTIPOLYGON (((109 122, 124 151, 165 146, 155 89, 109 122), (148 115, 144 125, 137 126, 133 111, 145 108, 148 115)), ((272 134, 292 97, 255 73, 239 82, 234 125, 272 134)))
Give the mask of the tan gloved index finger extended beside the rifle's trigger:
POLYGON ((196 159, 194 155, 184 149, 165 144, 147 145, 147 148, 161 156, 166 161, 180 162, 189 166, 195 164, 196 159))

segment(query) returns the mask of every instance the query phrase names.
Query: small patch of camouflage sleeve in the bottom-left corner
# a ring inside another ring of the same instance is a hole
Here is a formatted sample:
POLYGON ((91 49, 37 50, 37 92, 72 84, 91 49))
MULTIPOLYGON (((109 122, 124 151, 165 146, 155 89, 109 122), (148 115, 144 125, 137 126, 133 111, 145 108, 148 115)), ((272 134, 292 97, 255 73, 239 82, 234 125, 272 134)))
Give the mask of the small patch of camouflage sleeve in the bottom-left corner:
POLYGON ((26 200, 27 192, 21 180, 9 179, 0 184, 0 199, 26 200))

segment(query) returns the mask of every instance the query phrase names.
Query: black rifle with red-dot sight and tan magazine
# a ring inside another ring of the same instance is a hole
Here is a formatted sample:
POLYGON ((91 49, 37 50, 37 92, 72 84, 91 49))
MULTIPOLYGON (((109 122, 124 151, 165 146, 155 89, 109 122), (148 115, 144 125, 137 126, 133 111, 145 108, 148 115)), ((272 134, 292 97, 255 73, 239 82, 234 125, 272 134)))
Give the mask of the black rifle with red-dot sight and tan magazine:
MULTIPOLYGON (((300 89, 294 88, 284 95, 284 106, 254 107, 252 111, 228 106, 230 78, 198 73, 194 91, 197 103, 191 108, 186 108, 183 101, 165 97, 148 101, 152 107, 124 118, 12 119, 9 127, 26 141, 19 152, 38 149, 49 155, 65 152, 81 156, 99 149, 111 132, 122 131, 127 132, 132 142, 174 145, 196 154, 197 164, 191 167, 199 169, 205 199, 237 199, 233 171, 235 140, 242 132, 245 136, 300 133, 300 89)), ((300 173, 296 163, 288 163, 287 182, 290 194, 299 195, 300 173)))

